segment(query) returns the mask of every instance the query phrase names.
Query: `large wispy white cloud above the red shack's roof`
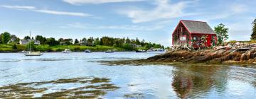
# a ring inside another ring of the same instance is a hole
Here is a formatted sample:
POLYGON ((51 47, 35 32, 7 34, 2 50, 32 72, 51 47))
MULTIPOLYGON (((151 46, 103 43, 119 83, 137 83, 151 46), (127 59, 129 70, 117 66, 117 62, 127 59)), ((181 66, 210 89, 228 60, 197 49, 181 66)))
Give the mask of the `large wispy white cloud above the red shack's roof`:
POLYGON ((193 4, 195 1, 180 1, 176 4, 169 4, 168 0, 156 0, 156 8, 151 10, 135 9, 119 11, 129 18, 132 18, 133 23, 143 23, 149 21, 156 21, 159 19, 178 18, 182 16, 191 16, 196 13, 183 13, 183 10, 188 7, 189 4, 193 4))

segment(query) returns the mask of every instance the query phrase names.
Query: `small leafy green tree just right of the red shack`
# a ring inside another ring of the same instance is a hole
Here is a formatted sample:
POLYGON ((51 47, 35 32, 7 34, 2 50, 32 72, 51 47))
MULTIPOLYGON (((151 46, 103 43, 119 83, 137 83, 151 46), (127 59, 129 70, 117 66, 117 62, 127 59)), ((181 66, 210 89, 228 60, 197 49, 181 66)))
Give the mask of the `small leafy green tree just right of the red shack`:
POLYGON ((223 23, 215 26, 214 31, 218 37, 218 45, 222 44, 225 40, 228 39, 228 28, 225 28, 223 23))

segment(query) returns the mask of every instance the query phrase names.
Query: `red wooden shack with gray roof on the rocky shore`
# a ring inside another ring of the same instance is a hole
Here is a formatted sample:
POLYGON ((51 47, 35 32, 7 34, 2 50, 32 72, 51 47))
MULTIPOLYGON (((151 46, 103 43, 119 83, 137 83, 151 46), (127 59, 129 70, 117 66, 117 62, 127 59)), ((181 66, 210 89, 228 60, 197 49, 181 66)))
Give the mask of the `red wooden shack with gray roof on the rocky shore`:
POLYGON ((179 21, 172 33, 174 47, 202 48, 216 45, 217 37, 210 26, 203 21, 179 21))

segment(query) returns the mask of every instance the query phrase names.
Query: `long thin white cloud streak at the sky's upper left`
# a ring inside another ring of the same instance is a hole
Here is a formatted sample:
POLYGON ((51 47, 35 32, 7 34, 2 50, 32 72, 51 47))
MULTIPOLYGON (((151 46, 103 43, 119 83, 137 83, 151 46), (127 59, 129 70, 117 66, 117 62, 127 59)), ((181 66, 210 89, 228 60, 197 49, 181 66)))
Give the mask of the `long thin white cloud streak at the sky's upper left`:
POLYGON ((88 13, 78 13, 78 12, 67 12, 67 11, 50 11, 46 9, 39 9, 35 6, 8 6, 4 5, 2 6, 4 8, 14 8, 18 10, 29 10, 29 11, 36 11, 41 13, 49 13, 49 14, 55 14, 55 15, 66 15, 66 16, 92 16, 88 13))

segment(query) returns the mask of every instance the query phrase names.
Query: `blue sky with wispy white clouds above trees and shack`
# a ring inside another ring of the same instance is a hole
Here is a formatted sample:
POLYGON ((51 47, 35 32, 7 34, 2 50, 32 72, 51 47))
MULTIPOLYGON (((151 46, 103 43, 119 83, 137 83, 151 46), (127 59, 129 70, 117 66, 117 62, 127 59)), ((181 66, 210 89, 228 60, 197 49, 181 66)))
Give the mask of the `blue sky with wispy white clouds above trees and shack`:
POLYGON ((255 0, 1 0, 0 33, 23 38, 129 37, 171 45, 178 21, 223 23, 228 40, 250 40, 255 0))

